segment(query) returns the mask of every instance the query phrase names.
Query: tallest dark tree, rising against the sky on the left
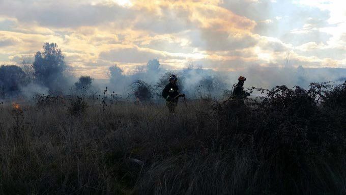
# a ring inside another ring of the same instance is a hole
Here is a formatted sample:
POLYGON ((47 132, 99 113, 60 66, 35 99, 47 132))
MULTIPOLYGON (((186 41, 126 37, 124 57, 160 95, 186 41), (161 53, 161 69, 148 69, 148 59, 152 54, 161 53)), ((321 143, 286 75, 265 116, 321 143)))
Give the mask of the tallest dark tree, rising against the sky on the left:
POLYGON ((54 90, 56 86, 61 86, 61 81, 64 79, 64 71, 67 68, 64 55, 56 43, 45 43, 43 50, 35 54, 33 63, 35 77, 41 85, 54 90))

